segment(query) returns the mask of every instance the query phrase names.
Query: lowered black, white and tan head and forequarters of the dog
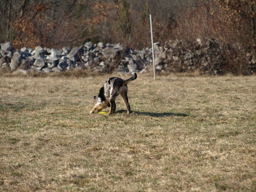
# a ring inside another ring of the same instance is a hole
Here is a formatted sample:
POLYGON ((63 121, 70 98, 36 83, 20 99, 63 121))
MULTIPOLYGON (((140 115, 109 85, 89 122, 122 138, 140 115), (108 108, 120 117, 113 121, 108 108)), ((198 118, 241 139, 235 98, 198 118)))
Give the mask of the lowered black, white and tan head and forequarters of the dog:
POLYGON ((93 96, 94 99, 94 107, 90 111, 90 114, 92 113, 98 113, 102 109, 105 109, 107 106, 109 106, 109 102, 106 101, 106 98, 104 96, 104 87, 100 89, 100 93, 98 96, 93 96))

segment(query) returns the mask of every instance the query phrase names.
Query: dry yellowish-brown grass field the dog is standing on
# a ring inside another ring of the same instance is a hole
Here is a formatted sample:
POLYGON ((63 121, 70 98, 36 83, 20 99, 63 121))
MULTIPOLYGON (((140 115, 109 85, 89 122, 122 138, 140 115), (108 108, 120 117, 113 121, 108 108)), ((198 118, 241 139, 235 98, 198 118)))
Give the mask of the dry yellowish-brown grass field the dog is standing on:
POLYGON ((108 77, 0 77, 0 191, 256 191, 256 76, 108 77))

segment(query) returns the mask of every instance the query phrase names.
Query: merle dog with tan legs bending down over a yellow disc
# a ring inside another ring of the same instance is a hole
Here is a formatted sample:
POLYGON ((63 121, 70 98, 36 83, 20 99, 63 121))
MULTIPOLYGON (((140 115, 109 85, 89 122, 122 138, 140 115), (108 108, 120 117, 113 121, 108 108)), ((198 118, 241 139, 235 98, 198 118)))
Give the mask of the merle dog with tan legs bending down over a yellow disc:
POLYGON ((106 107, 110 107, 110 111, 107 115, 113 114, 116 110, 116 97, 120 94, 124 103, 126 105, 127 114, 130 114, 131 108, 128 102, 127 84, 137 78, 137 74, 135 72, 132 73, 133 76, 126 80, 123 80, 118 77, 111 77, 106 80, 104 86, 100 88, 100 92, 98 96, 94 96, 95 105, 90 111, 90 114, 100 112, 102 109, 106 107))

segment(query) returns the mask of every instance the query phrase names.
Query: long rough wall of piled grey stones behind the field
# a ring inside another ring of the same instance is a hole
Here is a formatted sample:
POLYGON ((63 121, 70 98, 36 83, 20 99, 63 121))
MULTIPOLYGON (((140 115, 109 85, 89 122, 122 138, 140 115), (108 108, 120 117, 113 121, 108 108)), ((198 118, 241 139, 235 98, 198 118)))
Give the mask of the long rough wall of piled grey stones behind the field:
MULTIPOLYGON (((92 44, 62 49, 21 48, 16 50, 10 42, 0 44, 0 70, 28 72, 62 72, 87 69, 99 73, 140 72, 152 68, 152 48, 132 50, 122 44, 92 44)), ((232 67, 242 63, 244 72, 256 73, 256 58, 239 45, 224 45, 215 39, 194 42, 169 40, 154 43, 156 71, 187 72, 199 70, 202 74, 232 73, 232 67), (236 64, 237 62, 237 64, 236 64)), ((237 70, 237 69, 236 69, 237 70)), ((238 72, 239 73, 239 72, 238 72)))

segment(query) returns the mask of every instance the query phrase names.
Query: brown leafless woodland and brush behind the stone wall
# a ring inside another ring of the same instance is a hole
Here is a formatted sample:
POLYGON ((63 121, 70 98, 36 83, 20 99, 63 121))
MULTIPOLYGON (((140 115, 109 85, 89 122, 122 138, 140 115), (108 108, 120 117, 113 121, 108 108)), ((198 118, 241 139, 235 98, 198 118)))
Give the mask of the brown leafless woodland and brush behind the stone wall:
POLYGON ((154 40, 217 38, 252 49, 255 0, 0 0, 0 42, 60 48, 85 42, 150 46, 154 40))

